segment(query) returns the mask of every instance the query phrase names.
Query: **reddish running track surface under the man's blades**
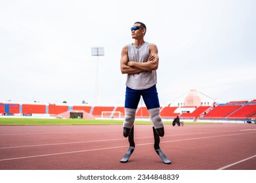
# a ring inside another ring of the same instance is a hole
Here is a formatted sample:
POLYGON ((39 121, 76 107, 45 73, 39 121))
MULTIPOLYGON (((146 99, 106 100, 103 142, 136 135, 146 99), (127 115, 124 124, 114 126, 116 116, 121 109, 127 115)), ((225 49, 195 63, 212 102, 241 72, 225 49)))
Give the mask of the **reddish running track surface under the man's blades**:
POLYGON ((256 169, 256 125, 165 125, 160 147, 171 159, 165 165, 154 151, 152 125, 135 125, 135 151, 122 125, 0 126, 0 169, 5 170, 214 170, 256 169))

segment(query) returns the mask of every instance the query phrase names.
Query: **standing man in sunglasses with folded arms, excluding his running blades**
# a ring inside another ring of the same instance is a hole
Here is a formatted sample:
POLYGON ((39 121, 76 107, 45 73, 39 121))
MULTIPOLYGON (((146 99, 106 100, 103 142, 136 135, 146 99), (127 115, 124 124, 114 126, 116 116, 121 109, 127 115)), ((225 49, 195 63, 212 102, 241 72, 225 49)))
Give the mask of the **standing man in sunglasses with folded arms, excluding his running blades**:
POLYGON ((158 69, 158 48, 156 44, 144 41, 146 25, 135 22, 131 37, 135 40, 121 50, 121 73, 127 74, 125 95, 125 119, 123 136, 128 137, 135 122, 135 114, 142 96, 152 123, 160 137, 164 135, 160 117, 160 103, 156 89, 158 69))

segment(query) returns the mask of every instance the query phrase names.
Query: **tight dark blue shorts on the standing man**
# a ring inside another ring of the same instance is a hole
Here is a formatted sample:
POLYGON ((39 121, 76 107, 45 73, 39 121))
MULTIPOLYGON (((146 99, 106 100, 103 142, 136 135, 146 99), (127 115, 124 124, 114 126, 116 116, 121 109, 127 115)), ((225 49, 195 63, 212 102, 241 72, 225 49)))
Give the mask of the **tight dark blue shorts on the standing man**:
POLYGON ((150 109, 160 107, 155 84, 145 90, 133 90, 127 86, 125 93, 125 108, 137 108, 140 102, 140 96, 142 96, 146 108, 150 109))

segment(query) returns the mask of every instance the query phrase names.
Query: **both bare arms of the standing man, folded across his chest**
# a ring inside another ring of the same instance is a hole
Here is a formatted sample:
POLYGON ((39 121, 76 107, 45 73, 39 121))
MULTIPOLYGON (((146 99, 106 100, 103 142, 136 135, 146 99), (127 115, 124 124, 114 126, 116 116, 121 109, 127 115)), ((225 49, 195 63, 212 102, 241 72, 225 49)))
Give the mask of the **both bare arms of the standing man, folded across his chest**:
POLYGON ((150 44, 150 56, 146 62, 136 62, 128 60, 128 46, 124 46, 121 51, 121 73, 122 74, 136 74, 142 71, 154 71, 158 69, 158 47, 156 44, 150 44))

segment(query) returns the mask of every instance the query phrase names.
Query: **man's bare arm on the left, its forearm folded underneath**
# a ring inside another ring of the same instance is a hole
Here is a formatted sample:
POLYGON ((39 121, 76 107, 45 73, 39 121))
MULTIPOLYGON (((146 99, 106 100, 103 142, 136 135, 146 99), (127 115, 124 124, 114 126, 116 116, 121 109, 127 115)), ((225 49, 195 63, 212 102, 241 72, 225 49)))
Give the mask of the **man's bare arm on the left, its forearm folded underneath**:
POLYGON ((140 73, 143 71, 142 69, 129 67, 127 65, 128 61, 129 61, 128 60, 128 46, 124 46, 121 51, 121 61, 120 61, 121 73, 132 75, 132 74, 140 73))

